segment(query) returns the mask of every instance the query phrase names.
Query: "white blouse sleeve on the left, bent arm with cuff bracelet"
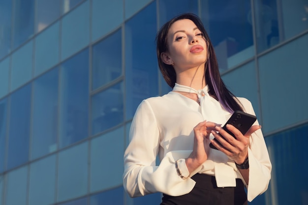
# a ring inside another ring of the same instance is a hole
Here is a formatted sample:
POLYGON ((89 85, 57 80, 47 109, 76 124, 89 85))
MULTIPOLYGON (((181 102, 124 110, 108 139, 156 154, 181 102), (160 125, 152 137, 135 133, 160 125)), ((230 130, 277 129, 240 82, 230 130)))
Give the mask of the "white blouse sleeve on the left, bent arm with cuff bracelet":
MULTIPOLYGON (((142 101, 137 108, 129 141, 124 152, 123 186, 130 197, 155 192, 180 196, 194 187, 195 182, 190 178, 182 179, 175 168, 175 161, 185 159, 191 151, 168 152, 159 166, 155 164, 160 135, 154 112, 147 100, 142 101)), ((182 174, 188 176, 185 164, 179 163, 179 166, 182 174)))

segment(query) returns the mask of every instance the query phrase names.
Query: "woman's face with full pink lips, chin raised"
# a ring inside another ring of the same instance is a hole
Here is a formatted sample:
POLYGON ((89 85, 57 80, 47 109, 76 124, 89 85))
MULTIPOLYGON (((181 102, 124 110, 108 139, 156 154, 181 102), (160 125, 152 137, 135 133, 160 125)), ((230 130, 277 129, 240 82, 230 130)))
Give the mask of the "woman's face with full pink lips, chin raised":
POLYGON ((198 67, 207 61, 207 44, 201 31, 189 19, 176 21, 167 34, 168 52, 162 55, 175 70, 198 67))

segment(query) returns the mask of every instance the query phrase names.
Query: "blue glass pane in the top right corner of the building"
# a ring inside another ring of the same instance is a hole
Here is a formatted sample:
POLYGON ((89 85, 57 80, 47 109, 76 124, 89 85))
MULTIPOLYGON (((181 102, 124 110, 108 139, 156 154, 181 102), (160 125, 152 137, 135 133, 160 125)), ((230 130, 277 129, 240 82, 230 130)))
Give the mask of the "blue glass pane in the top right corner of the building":
POLYGON ((281 0, 284 39, 308 29, 308 0, 281 0))

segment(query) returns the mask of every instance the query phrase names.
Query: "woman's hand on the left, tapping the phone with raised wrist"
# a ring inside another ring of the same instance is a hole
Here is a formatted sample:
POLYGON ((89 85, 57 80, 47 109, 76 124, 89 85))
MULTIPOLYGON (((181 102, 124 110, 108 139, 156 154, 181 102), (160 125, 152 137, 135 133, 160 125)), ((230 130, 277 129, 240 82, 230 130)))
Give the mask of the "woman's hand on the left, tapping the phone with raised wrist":
POLYGON ((208 159, 210 149, 210 133, 211 131, 216 130, 215 127, 217 126, 220 125, 214 122, 203 121, 193 128, 193 150, 189 157, 185 160, 189 173, 197 169, 208 159))

